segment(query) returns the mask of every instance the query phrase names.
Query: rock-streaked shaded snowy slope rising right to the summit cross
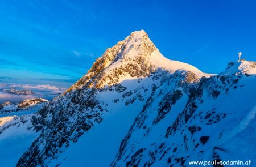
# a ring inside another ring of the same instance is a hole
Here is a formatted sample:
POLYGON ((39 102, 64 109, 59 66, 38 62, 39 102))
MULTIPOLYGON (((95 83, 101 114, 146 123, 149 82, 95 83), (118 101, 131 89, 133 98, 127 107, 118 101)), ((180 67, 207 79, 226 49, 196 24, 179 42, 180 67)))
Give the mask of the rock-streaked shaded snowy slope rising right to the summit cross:
POLYGON ((188 85, 166 83, 159 87, 154 101, 123 139, 112 166, 255 160, 254 64, 233 62, 221 75, 201 79, 191 92, 186 91, 188 85), (251 71, 251 75, 243 71, 251 71), (180 91, 179 97, 175 90, 180 91))

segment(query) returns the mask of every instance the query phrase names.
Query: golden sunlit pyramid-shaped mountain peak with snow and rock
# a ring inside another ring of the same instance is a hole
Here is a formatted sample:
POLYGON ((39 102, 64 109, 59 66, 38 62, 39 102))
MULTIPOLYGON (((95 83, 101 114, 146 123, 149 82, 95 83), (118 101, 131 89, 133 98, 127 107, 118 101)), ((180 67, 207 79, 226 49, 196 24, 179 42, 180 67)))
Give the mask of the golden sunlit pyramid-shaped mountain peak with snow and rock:
POLYGON ((72 89, 86 87, 104 87, 126 79, 145 78, 152 72, 163 70, 186 70, 200 72, 187 63, 171 61, 164 57, 150 40, 144 30, 134 31, 117 45, 108 48, 97 58, 92 68, 67 92, 72 89))

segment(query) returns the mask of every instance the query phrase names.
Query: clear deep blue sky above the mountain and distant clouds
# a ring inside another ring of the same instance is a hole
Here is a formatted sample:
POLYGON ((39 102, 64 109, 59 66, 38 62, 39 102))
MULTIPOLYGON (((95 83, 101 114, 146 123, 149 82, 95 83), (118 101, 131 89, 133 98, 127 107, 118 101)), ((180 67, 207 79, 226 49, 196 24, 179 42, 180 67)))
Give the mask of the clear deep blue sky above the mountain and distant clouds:
POLYGON ((217 74, 256 61, 256 1, 0 1, 0 80, 69 87, 144 29, 167 58, 217 74))

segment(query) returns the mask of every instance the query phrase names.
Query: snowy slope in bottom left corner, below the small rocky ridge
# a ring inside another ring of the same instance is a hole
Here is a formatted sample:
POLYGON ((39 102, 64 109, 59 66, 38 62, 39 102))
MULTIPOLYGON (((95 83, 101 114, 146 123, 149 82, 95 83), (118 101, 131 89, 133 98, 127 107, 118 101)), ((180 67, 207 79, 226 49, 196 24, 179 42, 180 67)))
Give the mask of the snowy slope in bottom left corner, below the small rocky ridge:
POLYGON ((0 118, 0 162, 1 166, 15 166, 20 156, 38 137, 31 115, 0 118))

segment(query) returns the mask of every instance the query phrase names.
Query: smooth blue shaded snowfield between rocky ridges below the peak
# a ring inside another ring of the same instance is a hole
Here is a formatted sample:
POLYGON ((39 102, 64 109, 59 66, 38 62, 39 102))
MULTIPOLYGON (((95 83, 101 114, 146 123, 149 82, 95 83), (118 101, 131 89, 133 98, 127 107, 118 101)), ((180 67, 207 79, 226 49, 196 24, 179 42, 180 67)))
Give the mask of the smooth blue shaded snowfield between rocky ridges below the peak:
POLYGON ((152 83, 151 79, 142 80, 140 83, 138 83, 138 79, 129 80, 121 83, 124 87, 127 87, 122 94, 116 91, 101 92, 97 98, 108 104, 107 110, 111 113, 102 115, 103 120, 100 124, 94 125, 90 131, 79 138, 77 143, 72 144, 49 166, 55 164, 61 164, 61 166, 80 166, 81 164, 86 164, 86 166, 109 166, 119 149, 117 143, 121 143, 125 137, 137 117, 138 110, 143 109, 144 100, 139 99, 138 96, 143 95, 143 98, 147 98, 152 92, 152 83), (133 88, 131 85, 137 85, 138 87, 133 88), (147 91, 145 92, 145 90, 147 91), (123 98, 122 95, 126 95, 127 92, 133 94, 123 98), (115 102, 117 99, 118 102, 115 102), (135 101, 129 104, 130 99, 135 99, 135 101))

